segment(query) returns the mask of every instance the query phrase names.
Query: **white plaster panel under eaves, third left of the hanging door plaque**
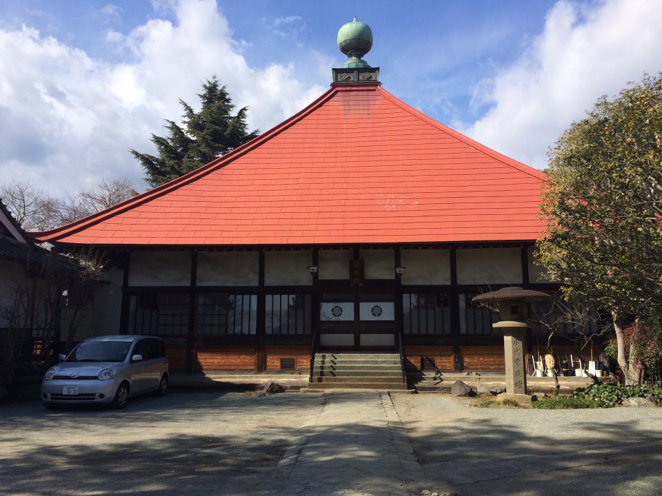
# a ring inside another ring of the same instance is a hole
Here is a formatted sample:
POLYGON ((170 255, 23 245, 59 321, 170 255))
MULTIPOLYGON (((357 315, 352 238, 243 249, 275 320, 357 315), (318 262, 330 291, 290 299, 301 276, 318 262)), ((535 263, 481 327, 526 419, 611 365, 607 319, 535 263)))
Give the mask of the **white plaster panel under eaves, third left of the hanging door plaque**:
POLYGON ((257 286, 260 256, 257 251, 201 251, 198 286, 257 286))

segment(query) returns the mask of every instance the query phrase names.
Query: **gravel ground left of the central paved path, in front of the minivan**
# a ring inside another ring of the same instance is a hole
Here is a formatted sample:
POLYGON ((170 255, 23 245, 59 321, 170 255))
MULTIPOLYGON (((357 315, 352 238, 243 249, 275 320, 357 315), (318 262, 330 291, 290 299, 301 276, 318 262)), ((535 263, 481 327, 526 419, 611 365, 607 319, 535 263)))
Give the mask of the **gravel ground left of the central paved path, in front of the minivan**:
POLYGON ((314 395, 172 393, 0 407, 0 495, 264 495, 314 395), (294 400, 294 401, 293 401, 294 400))

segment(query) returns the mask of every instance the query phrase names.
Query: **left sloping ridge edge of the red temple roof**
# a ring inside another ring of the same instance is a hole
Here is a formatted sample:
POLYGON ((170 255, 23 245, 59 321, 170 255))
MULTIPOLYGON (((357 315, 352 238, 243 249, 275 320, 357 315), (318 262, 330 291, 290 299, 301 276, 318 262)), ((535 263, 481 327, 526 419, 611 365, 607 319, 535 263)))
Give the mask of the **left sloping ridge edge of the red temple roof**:
MULTIPOLYGON (((371 87, 374 88, 374 86, 371 87)), ((227 165, 228 163, 234 161, 236 158, 239 158, 241 155, 245 154, 246 152, 249 152, 254 147, 261 145, 261 143, 263 143, 264 141, 268 141, 270 138, 277 136, 278 134, 283 132, 283 130, 287 129, 297 121, 301 120, 301 118, 310 114, 310 112, 312 112, 317 107, 319 107, 319 105, 321 105, 328 99, 332 98, 332 96, 334 96, 334 94, 336 94, 339 90, 344 90, 344 88, 339 88, 337 86, 330 87, 329 90, 325 91, 317 99, 315 99, 314 101, 303 107, 303 109, 299 110, 299 112, 285 119, 285 121, 275 125, 270 130, 267 130, 263 134, 256 136, 255 138, 248 141, 247 143, 244 143, 240 147, 233 149, 231 152, 228 152, 227 154, 222 155, 219 158, 215 158, 210 163, 201 165, 201 167, 198 167, 197 169, 194 169, 191 172, 184 174, 183 176, 179 176, 178 178, 174 178, 168 181, 168 183, 163 183, 162 185, 153 187, 152 189, 148 189, 146 192, 138 194, 137 196, 133 196, 132 198, 128 198, 127 200, 123 200, 122 202, 117 203, 116 205, 112 205, 112 207, 108 207, 107 209, 98 211, 90 216, 83 217, 78 220, 74 220, 72 223, 60 227, 56 227, 54 229, 49 229, 48 231, 33 231, 26 234, 28 234, 28 236, 34 240, 57 241, 57 238, 74 234, 80 229, 83 229, 90 225, 99 223, 102 220, 105 220, 108 216, 114 214, 120 214, 123 211, 130 210, 134 207, 138 207, 139 205, 142 205, 148 200, 152 200, 153 198, 158 198, 163 194, 166 194, 183 185, 191 183, 192 181, 197 180, 198 178, 201 178, 207 174, 210 174, 210 172, 219 169, 219 167, 223 167, 224 165, 227 165)))

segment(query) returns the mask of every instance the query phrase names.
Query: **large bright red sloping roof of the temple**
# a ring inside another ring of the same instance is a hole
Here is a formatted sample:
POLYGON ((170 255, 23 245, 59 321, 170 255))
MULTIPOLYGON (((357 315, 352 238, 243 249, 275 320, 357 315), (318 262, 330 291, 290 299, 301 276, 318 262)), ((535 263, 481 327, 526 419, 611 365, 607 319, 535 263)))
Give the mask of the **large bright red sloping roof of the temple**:
POLYGON ((545 174, 379 85, 332 85, 186 176, 32 236, 85 245, 535 240, 545 174))

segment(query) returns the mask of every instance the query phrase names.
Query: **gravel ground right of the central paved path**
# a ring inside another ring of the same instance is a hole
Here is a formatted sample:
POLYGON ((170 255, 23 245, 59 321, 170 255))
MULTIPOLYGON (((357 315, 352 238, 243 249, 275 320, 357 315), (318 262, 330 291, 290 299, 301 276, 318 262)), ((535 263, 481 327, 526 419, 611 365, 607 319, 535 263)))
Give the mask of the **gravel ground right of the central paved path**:
POLYGON ((662 408, 469 408, 392 395, 430 490, 472 495, 662 495, 662 408))

